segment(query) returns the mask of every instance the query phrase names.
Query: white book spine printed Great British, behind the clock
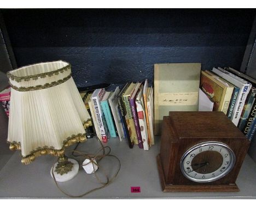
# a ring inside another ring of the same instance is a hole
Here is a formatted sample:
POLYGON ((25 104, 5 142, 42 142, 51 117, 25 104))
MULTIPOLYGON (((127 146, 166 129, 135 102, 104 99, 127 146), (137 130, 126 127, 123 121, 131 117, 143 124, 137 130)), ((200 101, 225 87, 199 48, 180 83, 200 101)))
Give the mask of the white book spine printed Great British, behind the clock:
POLYGON ((233 117, 232 117, 232 122, 236 126, 238 125, 238 122, 240 120, 242 109, 243 109, 243 106, 245 105, 245 100, 246 100, 246 97, 248 94, 248 90, 250 90, 249 85, 247 85, 247 84, 243 85, 243 87, 240 90, 241 91, 237 97, 235 111, 234 111, 233 117))

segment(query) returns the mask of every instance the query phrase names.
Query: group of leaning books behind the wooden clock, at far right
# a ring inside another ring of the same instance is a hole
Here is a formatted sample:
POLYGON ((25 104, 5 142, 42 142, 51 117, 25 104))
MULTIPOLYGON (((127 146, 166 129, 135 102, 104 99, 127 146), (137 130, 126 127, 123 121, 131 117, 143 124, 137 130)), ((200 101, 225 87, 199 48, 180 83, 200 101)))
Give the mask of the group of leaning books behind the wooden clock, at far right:
POLYGON ((213 111, 222 111, 249 140, 256 130, 256 81, 232 68, 201 71, 200 89, 213 104, 213 111))

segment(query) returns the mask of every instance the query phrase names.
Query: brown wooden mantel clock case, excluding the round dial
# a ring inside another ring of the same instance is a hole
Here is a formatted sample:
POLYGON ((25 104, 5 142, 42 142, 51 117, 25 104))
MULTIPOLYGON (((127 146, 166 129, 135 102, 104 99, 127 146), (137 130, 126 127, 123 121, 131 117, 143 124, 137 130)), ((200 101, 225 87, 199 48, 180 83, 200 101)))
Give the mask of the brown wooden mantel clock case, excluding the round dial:
POLYGON ((162 122, 160 154, 157 158, 163 191, 239 191, 235 182, 248 147, 248 139, 223 112, 170 112, 162 122), (235 166, 219 180, 205 183, 190 181, 181 172, 181 157, 191 146, 207 141, 228 145, 235 153, 235 166))

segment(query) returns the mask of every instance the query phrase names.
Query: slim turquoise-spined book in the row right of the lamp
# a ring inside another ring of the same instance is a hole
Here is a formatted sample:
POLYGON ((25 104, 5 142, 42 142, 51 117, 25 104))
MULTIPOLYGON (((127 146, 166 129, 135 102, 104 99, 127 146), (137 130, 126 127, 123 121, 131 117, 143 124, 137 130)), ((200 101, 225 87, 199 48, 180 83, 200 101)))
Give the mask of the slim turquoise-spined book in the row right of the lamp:
POLYGON ((117 137, 117 133, 115 132, 115 124, 114 124, 114 120, 112 118, 113 116, 112 116, 112 113, 110 111, 110 107, 108 104, 108 98, 111 94, 112 94, 111 91, 106 91, 106 93, 104 94, 104 96, 101 99, 101 109, 102 109, 104 117, 106 119, 110 137, 114 138, 114 137, 117 137))

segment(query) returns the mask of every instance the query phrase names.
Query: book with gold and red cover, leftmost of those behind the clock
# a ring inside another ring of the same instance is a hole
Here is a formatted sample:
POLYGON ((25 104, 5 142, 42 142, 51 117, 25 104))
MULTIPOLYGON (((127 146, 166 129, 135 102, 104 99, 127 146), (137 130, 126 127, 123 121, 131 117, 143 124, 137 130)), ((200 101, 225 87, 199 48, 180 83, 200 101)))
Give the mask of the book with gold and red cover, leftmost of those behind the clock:
POLYGON ((213 111, 228 112, 234 87, 210 71, 201 71, 200 88, 214 102, 213 111))

